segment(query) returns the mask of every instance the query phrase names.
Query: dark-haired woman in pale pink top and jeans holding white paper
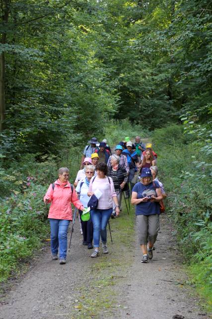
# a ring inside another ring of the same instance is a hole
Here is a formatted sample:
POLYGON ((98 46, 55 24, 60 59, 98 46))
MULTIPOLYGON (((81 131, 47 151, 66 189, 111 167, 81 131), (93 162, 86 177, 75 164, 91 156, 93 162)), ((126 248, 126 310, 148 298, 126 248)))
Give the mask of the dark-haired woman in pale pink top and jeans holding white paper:
POLYGON ((91 178, 88 188, 88 196, 96 195, 98 206, 90 210, 93 222, 93 242, 94 252, 90 257, 95 258, 99 255, 100 235, 102 240, 103 254, 108 254, 107 249, 107 223, 113 211, 113 201, 116 205, 116 215, 119 215, 119 204, 117 194, 114 189, 113 180, 107 177, 107 164, 101 162, 96 165, 97 176, 91 178))

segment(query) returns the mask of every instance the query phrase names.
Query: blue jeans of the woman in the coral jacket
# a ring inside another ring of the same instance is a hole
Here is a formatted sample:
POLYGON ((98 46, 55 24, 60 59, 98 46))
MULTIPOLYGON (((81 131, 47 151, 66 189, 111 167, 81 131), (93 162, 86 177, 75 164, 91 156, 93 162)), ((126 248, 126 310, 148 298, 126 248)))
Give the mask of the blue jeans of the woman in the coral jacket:
POLYGON ((66 259, 67 233, 70 220, 49 218, 51 227, 51 250, 53 255, 58 254, 60 259, 66 259))

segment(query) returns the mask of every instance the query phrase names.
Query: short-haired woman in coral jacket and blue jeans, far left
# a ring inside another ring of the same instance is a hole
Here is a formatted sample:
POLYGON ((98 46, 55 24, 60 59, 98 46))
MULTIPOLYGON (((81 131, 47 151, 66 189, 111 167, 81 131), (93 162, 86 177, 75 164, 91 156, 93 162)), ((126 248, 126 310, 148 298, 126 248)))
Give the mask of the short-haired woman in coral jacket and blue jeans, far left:
POLYGON ((58 259, 59 247, 60 264, 66 264, 67 233, 72 220, 71 203, 80 210, 84 207, 69 182, 69 169, 61 167, 58 173, 59 178, 49 186, 44 202, 51 203, 48 218, 51 227, 52 259, 58 259))

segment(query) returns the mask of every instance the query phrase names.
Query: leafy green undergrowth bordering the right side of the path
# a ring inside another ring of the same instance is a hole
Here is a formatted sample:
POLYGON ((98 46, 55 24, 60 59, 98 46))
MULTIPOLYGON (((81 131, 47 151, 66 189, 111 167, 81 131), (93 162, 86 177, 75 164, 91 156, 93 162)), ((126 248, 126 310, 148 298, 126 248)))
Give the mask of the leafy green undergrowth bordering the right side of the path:
POLYGON ((152 135, 154 149, 156 152, 158 150, 159 175, 168 193, 168 209, 175 224, 179 248, 185 262, 190 265, 192 282, 208 300, 212 296, 210 134, 209 127, 194 124, 188 119, 185 127, 173 125, 155 130, 152 135))

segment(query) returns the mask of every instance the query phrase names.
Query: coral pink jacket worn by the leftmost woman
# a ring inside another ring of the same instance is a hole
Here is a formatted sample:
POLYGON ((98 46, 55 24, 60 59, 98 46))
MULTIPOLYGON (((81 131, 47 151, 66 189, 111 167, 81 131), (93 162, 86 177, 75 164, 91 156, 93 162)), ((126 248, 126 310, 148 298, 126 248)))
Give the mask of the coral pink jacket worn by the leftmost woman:
POLYGON ((44 201, 45 199, 48 199, 49 203, 51 203, 48 218, 72 220, 71 203, 80 210, 84 208, 77 198, 74 188, 72 193, 69 181, 68 184, 63 187, 59 184, 58 180, 56 180, 54 190, 52 184, 50 184, 44 196, 44 201))

